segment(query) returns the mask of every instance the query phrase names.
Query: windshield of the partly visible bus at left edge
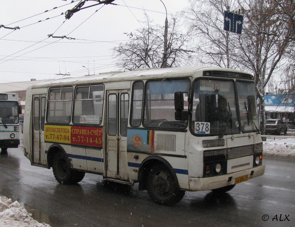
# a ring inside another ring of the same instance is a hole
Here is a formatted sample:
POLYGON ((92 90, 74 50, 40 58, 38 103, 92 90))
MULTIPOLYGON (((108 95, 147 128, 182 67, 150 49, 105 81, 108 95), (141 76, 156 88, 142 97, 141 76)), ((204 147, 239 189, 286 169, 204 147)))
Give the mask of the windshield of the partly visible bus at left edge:
POLYGON ((19 105, 15 101, 0 101, 0 117, 1 123, 4 124, 18 124, 19 123, 19 105))

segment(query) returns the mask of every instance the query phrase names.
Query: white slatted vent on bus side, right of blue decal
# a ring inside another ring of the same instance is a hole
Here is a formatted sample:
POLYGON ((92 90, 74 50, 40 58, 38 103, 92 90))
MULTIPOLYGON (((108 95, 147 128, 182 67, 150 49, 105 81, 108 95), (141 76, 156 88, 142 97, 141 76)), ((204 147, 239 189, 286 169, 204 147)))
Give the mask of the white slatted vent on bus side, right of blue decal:
POLYGON ((156 149, 176 152, 176 134, 157 134, 156 149))

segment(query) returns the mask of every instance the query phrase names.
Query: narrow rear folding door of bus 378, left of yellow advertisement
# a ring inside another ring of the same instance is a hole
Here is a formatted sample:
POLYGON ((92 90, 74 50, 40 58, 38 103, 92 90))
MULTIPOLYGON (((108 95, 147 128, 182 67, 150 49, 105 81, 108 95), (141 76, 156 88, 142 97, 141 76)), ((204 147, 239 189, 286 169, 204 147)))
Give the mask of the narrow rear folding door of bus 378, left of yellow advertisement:
POLYGON ((46 95, 33 95, 33 163, 46 165, 44 124, 46 95))

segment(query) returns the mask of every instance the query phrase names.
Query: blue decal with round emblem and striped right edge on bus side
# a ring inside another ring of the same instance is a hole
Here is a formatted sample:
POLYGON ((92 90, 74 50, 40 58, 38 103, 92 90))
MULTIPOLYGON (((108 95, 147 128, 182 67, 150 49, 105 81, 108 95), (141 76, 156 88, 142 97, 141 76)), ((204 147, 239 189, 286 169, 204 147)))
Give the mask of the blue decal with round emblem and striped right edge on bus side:
POLYGON ((154 152, 154 130, 128 129, 127 151, 154 152))

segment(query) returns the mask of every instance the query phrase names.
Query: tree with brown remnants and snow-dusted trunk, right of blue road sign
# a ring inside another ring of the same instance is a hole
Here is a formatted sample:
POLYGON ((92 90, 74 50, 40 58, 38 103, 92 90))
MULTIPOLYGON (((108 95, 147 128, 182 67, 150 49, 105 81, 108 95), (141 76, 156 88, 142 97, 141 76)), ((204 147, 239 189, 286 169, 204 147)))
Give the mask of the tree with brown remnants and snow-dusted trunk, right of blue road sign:
POLYGON ((237 38, 235 61, 242 70, 252 71, 255 77, 256 94, 260 99, 259 111, 262 132, 265 132, 265 88, 291 44, 292 32, 283 26, 276 7, 265 0, 241 1, 244 14, 243 34, 237 38))

